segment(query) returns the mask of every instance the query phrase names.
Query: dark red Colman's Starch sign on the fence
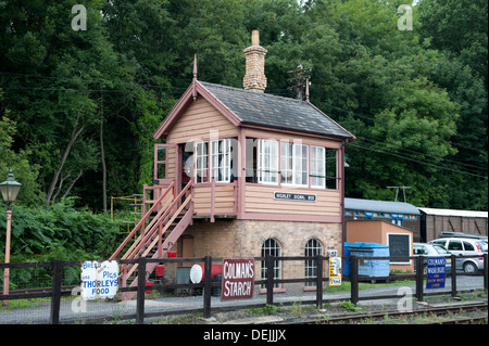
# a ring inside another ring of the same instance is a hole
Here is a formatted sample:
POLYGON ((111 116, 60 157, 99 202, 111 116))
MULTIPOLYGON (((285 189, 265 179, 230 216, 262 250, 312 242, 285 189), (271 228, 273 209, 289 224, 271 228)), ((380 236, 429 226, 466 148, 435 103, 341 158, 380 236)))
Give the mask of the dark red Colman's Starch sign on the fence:
POLYGON ((253 297, 254 259, 224 258, 221 300, 253 297))

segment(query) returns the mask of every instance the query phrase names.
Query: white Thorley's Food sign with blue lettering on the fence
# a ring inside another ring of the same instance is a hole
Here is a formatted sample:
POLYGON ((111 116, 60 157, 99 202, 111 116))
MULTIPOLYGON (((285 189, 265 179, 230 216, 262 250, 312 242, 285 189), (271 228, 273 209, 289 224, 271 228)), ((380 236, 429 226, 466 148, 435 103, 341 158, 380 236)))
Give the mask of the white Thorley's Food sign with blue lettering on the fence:
POLYGON ((82 265, 82 298, 113 298, 117 293, 118 265, 115 260, 98 262, 84 261, 82 265))

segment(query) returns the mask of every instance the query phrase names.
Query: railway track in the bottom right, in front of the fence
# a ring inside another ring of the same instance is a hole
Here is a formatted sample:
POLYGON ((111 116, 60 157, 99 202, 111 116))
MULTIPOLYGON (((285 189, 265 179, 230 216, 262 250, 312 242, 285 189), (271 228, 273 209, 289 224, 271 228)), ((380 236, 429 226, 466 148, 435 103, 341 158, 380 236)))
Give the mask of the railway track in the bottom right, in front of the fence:
POLYGON ((401 319, 419 318, 418 324, 487 324, 487 313, 482 317, 468 317, 467 313, 477 313, 488 311, 487 304, 467 304, 456 306, 444 306, 436 308, 426 308, 411 311, 386 311, 367 315, 347 315, 334 318, 316 319, 305 321, 303 324, 358 324, 358 323, 375 323, 377 321, 394 321, 401 319), (438 317, 448 316, 449 320, 428 321, 423 322, 423 317, 435 319, 438 317))

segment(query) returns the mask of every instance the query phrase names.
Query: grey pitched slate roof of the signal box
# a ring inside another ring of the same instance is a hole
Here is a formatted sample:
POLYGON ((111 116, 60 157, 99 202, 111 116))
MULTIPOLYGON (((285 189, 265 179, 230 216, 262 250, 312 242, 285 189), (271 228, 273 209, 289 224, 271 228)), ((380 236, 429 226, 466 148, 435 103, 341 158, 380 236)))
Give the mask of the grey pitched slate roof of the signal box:
POLYGON ((258 125, 341 139, 354 136, 309 102, 200 81, 241 125, 258 125))

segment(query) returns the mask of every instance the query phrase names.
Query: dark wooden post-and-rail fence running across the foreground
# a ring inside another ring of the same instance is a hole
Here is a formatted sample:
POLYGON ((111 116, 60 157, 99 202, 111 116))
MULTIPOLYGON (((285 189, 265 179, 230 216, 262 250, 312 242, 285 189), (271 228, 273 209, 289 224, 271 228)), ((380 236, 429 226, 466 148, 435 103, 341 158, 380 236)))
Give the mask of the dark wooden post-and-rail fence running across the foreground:
MULTIPOLYGON (((415 297, 417 300, 423 300, 425 296, 428 295, 452 295, 455 296, 456 293, 464 292, 462 290, 457 290, 456 287, 456 277, 461 274, 466 273, 457 273, 455 271, 455 260, 456 258, 464 258, 464 257, 480 257, 480 256, 454 256, 452 255, 452 269, 451 269, 451 290, 450 291, 437 291, 434 293, 427 293, 424 291, 424 279, 426 278, 426 274, 423 273, 423 266, 424 266, 424 259, 426 257, 424 256, 416 256, 416 257, 343 257, 343 260, 350 260, 351 261, 351 273, 349 277, 342 277, 343 281, 350 281, 351 282, 351 292, 350 292, 350 298, 349 300, 353 304, 358 304, 362 299, 392 299, 392 298, 401 298, 399 295, 377 295, 377 296, 365 296, 361 297, 359 295, 359 282, 361 281, 371 281, 372 279, 375 280, 389 280, 389 281, 396 281, 396 280, 408 280, 408 279, 414 279, 416 281, 416 289, 415 289, 415 297), (360 277, 359 275, 359 260, 406 260, 406 259, 413 259, 416 262, 416 272, 414 274, 393 274, 388 277, 376 277, 376 278, 369 278, 369 277, 360 277)), ((329 260, 329 257, 324 256, 315 256, 315 257, 274 257, 274 256, 266 256, 266 257, 255 257, 254 260, 261 260, 265 261, 266 268, 273 268, 273 264, 275 260, 286 261, 286 260, 299 260, 299 261, 305 261, 305 260, 316 260, 317 264, 317 275, 316 278, 296 278, 296 279, 274 279, 273 270, 267 270, 266 278, 263 280, 254 280, 255 285, 262 285, 264 284, 266 287, 266 303, 265 304, 254 304, 254 305, 236 305, 233 307, 220 307, 214 308, 213 310, 233 310, 233 309, 244 309, 244 308, 255 308, 255 307, 263 307, 265 305, 274 305, 274 285, 275 284, 284 284, 284 283, 305 283, 305 282, 314 282, 316 287, 322 287, 322 290, 316 290, 316 296, 313 300, 302 300, 301 304, 308 305, 308 304, 315 304, 317 307, 322 307, 324 303, 333 303, 333 302, 339 302, 339 300, 348 300, 348 298, 341 298, 341 299, 325 299, 323 294, 323 287, 325 282, 328 281, 328 277, 324 275, 324 268, 325 268, 325 261, 329 260)), ((120 292, 129 292, 129 291, 137 291, 137 307, 136 307, 136 313, 135 315, 128 315, 122 317, 122 319, 135 319, 136 323, 143 323, 145 318, 148 317, 154 317, 154 316, 162 316, 162 315, 170 315, 170 313, 178 313, 178 312, 152 312, 152 313, 145 313, 145 295, 147 290, 168 290, 168 289, 203 289, 203 307, 195 310, 185 310, 186 313, 189 312, 203 312, 204 318, 209 318, 211 316, 211 292, 212 287, 221 286, 221 282, 213 282, 212 278, 212 262, 213 261, 222 261, 222 258, 212 258, 210 256, 203 257, 203 258, 138 258, 138 259, 130 259, 130 260, 118 260, 120 265, 124 264, 138 264, 138 284, 134 287, 121 287, 120 292), (201 283, 183 283, 183 284, 154 284, 154 285, 147 285, 146 282, 146 266, 150 262, 159 262, 159 264, 183 264, 183 262, 203 262, 204 264, 204 273, 203 273, 203 280, 201 283)), ((51 324, 58 324, 60 323, 60 304, 61 298, 65 296, 70 296, 72 294, 71 287, 63 287, 62 286, 62 272, 63 267, 68 266, 80 266, 83 261, 61 261, 61 260, 54 260, 54 261, 47 261, 47 262, 15 262, 15 264, 0 264, 0 270, 4 268, 38 268, 38 267, 51 267, 52 268, 52 287, 50 290, 42 289, 42 290, 32 290, 32 292, 28 292, 28 290, 25 290, 24 292, 12 292, 9 295, 0 295, 0 300, 12 300, 12 299, 26 299, 26 298, 40 298, 40 297, 50 297, 51 298, 51 309, 50 309, 50 317, 49 317, 49 323, 51 324)), ((484 255, 484 289, 488 290, 488 255, 484 255)), ((326 271, 327 272, 327 271, 326 271)), ((476 273, 480 274, 480 273, 476 273)), ((449 280, 447 278, 447 280, 449 280)), ((280 303, 283 305, 287 305, 284 303, 280 303)), ((1 309, 0 309, 1 311, 1 309)))

